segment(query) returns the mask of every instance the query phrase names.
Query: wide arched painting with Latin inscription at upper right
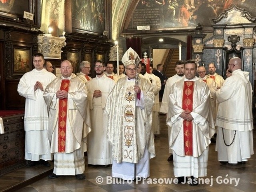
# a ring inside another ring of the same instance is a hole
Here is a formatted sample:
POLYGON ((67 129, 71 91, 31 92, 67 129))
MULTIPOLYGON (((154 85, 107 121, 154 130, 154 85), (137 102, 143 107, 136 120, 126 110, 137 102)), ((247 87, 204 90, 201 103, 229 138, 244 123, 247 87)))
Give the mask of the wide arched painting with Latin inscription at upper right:
POLYGON ((211 26, 212 19, 234 5, 256 16, 256 0, 140 0, 128 29, 211 26))

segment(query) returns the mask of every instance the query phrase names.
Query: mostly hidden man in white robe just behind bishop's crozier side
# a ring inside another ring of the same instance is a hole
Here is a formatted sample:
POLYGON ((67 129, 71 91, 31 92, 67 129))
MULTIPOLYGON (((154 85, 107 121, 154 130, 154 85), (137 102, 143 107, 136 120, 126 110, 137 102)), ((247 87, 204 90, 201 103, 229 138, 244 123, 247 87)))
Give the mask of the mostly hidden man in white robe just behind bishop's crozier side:
MULTIPOLYGON (((158 76, 155 76, 152 72, 153 72, 153 65, 150 64, 149 74, 152 75, 153 80, 156 82, 157 89, 161 90, 161 86, 162 86, 161 85, 161 80, 158 76)), ((156 92, 154 92, 154 94, 155 93, 156 92)), ((160 134, 160 130, 161 130, 160 119, 159 119, 159 111, 160 111, 159 92, 157 92, 155 94, 155 102, 154 102, 154 105, 153 105, 153 114, 152 114, 152 116, 153 116, 153 118, 152 118, 152 129, 154 131, 154 134, 157 134, 157 135, 160 134)))

